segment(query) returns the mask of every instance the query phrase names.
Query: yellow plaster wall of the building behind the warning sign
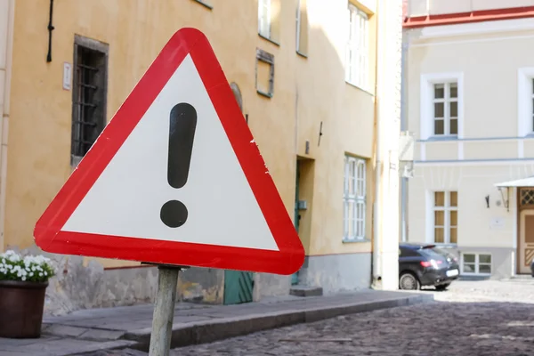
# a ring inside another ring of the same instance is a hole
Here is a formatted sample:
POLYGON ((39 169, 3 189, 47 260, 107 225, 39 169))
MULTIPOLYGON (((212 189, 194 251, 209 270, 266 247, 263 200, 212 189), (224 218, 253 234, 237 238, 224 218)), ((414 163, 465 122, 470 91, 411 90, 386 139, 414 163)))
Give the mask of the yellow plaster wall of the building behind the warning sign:
MULTIPOLYGON (((279 12, 279 45, 257 34, 257 1, 56 0, 53 61, 45 61, 48 2, 18 0, 15 8, 11 121, 4 246, 29 247, 36 219, 70 173, 72 93, 62 89, 63 62, 73 61, 75 34, 109 44, 108 120, 173 33, 206 33, 229 82, 239 85, 243 112, 269 166, 287 212, 294 215, 297 154, 315 159, 308 255, 370 251, 370 243, 342 244, 344 153, 371 158, 374 96, 344 82, 346 1, 308 0, 308 58, 295 53, 296 0, 279 12), (274 95, 255 90, 255 53, 274 55, 274 95), (318 145, 320 122, 323 136, 318 145), (310 142, 310 152, 304 151, 310 142)), ((371 32, 375 19, 371 16, 371 32)), ((371 74, 375 41, 370 41, 371 74)), ((370 88, 374 88, 371 83, 370 88)), ((371 238, 372 162, 368 162, 371 238)), ((312 188, 309 188, 309 187, 312 188)), ((104 261, 108 267, 122 261, 104 261)))

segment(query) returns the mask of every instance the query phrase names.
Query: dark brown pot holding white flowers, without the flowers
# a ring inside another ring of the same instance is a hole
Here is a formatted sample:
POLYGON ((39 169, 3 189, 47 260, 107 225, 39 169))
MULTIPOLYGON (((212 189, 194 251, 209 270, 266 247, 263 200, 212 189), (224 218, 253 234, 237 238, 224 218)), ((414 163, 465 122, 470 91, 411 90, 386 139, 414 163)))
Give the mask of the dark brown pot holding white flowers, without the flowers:
POLYGON ((0 280, 0 337, 37 338, 48 282, 0 280))

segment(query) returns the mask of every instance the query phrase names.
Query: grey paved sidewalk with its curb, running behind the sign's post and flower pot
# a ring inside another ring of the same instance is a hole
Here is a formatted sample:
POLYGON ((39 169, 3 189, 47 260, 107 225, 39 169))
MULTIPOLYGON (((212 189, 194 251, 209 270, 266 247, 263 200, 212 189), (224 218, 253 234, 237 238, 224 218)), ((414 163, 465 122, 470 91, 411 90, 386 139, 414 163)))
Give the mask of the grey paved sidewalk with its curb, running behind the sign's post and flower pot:
MULTIPOLYGON (((239 305, 176 303, 172 347, 209 343, 269 328, 430 301, 433 301, 430 293, 367 289, 331 296, 273 297, 239 305)), ((40 339, 0 338, 0 356, 61 356, 122 348, 147 351, 152 307, 152 304, 144 304, 44 317, 40 339)))

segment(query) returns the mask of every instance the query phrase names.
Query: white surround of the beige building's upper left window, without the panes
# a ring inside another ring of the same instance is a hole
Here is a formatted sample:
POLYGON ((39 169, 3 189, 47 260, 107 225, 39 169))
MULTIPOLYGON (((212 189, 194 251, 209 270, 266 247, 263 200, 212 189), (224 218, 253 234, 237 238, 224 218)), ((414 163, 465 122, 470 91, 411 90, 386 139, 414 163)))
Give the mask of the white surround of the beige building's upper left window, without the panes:
POLYGON ((428 140, 432 137, 444 139, 464 138, 464 73, 429 73, 421 75, 421 98, 420 98, 420 139, 428 140), (457 83, 458 102, 458 133, 457 134, 434 134, 434 85, 445 83, 457 83))

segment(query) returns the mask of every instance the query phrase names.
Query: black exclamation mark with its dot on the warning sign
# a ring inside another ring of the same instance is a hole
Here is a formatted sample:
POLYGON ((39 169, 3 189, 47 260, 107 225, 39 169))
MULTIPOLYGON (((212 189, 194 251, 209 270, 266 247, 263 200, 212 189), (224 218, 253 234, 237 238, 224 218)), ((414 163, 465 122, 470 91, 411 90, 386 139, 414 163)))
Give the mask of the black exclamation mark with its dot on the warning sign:
MULTIPOLYGON (((196 127, 197 110, 190 104, 181 102, 171 109, 167 181, 175 189, 187 182, 196 127)), ((168 227, 177 228, 185 223, 187 214, 181 201, 169 200, 161 206, 159 216, 168 227)))

